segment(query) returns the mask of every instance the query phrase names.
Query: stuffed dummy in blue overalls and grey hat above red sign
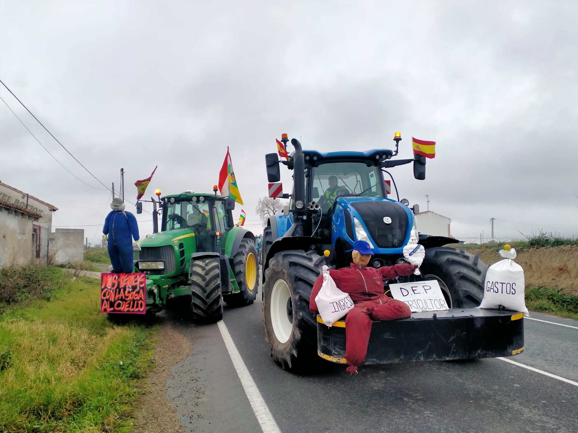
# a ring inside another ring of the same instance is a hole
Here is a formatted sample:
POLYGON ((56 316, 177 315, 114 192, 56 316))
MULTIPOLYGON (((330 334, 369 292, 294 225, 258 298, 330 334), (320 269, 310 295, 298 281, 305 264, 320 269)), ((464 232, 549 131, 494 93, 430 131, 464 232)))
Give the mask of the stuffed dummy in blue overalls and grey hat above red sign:
POLYGON ((134 270, 132 238, 139 240, 139 226, 131 212, 125 212, 123 200, 110 203, 112 211, 106 215, 102 233, 108 235, 108 252, 114 273, 129 274, 134 270))

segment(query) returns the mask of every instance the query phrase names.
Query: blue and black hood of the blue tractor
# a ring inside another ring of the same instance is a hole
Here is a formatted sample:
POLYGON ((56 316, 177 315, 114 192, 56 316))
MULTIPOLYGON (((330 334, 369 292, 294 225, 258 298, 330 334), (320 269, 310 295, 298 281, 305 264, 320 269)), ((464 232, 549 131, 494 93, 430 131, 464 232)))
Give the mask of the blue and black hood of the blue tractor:
POLYGON ((403 253, 414 221, 407 206, 383 197, 338 197, 336 203, 332 230, 334 242, 342 237, 353 245, 358 240, 358 233, 365 233, 373 244, 373 253, 403 253), (340 227, 344 227, 344 231, 340 227))

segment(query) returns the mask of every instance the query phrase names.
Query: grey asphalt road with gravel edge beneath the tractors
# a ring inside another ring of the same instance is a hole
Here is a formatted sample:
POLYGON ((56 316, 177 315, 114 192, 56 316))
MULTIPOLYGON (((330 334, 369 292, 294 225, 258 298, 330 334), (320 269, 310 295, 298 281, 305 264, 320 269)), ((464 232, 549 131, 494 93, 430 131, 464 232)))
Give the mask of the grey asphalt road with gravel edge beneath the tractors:
MULTIPOLYGON (((183 431, 263 431, 217 324, 166 318, 193 345, 167 383, 183 431)), ((361 366, 358 375, 327 363, 321 374, 299 376, 269 355, 261 293, 249 307, 225 308, 223 323, 284 433, 578 432, 578 386, 500 359, 361 366)), ((524 327, 525 351, 509 359, 578 382, 578 329, 529 319, 524 327)))

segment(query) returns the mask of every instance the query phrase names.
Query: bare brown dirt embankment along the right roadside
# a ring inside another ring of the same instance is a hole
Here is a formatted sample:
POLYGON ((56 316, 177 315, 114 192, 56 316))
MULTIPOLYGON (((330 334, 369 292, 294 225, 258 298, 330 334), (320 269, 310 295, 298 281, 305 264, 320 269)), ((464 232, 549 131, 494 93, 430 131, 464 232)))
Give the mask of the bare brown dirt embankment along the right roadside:
MULTIPOLYGON (((468 252, 479 254, 480 260, 488 264, 502 260, 495 249, 472 248, 468 252)), ((514 262, 524 269, 526 285, 554 287, 564 289, 567 294, 578 294, 578 247, 523 248, 516 252, 518 256, 514 262)))

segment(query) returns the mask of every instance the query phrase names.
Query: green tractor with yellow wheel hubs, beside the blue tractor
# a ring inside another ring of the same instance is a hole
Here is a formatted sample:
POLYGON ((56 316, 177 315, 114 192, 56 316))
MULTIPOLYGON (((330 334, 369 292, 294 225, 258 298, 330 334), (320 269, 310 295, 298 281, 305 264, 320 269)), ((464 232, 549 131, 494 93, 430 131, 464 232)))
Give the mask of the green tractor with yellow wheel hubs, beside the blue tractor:
MULTIPOLYGON (((154 233, 140 241, 134 270, 146 274, 147 307, 191 308, 194 322, 213 323, 223 318, 222 301, 232 307, 253 304, 258 290, 255 237, 235 227, 235 201, 213 191, 151 198, 154 233)), ((142 212, 140 201, 136 212, 142 212)))

